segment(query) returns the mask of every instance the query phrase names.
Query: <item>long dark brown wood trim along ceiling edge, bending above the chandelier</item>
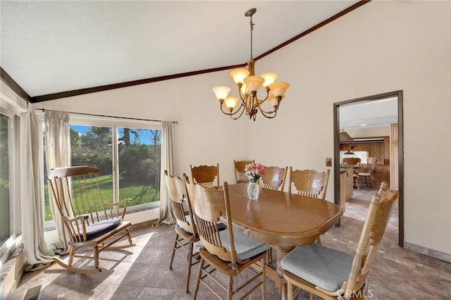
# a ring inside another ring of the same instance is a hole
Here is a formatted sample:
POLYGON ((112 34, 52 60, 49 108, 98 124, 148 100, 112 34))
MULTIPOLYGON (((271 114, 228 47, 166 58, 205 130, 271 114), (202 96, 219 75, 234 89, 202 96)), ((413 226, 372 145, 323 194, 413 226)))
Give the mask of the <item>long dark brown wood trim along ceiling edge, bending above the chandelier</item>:
MULTIPOLYGON (((328 23, 332 22, 333 20, 336 20, 340 17, 342 17, 343 15, 350 13, 351 11, 354 11, 354 9, 359 8, 360 6, 369 3, 369 1, 371 0, 362 0, 357 2, 356 4, 346 8, 343 11, 340 11, 340 13, 337 13, 335 15, 333 15, 332 17, 328 18, 327 20, 324 20, 323 22, 319 23, 318 25, 315 25, 314 27, 311 27, 309 30, 306 30, 304 32, 302 32, 301 34, 292 37, 291 39, 289 39, 287 42, 284 42, 283 44, 280 44, 276 47, 274 47, 273 49, 266 51, 264 54, 261 54, 260 56, 258 56, 257 58, 254 58, 254 61, 259 60, 260 58, 263 58, 264 56, 267 56, 268 54, 273 53, 274 51, 292 43, 295 42, 297 39, 300 39, 301 37, 304 37, 305 35, 308 35, 311 32, 314 32, 315 30, 323 27, 324 25, 327 25, 328 23)), ((107 91, 109 89, 120 89, 122 87, 132 87, 134 85, 144 85, 147 83, 152 83, 152 82, 159 82, 159 81, 163 81, 163 80, 170 80, 170 79, 175 79, 175 78, 181 78, 181 77, 187 77, 187 76, 193 76, 193 75, 200 75, 200 74, 205 74, 205 73, 211 73, 211 72, 217 72, 217 71, 221 71, 221 70, 230 70, 233 68, 242 68, 244 66, 246 66, 247 63, 242 63, 239 65, 228 65, 225 67, 220 67, 220 68, 211 68, 211 69, 206 69, 206 70, 197 70, 197 71, 192 71, 192 72, 187 72, 187 73, 180 73, 180 74, 173 74, 173 75, 165 75, 165 76, 159 76, 159 77, 152 77, 152 78, 147 78, 147 79, 142 79, 142 80, 134 80, 134 81, 129 81, 129 82, 121 82, 121 83, 116 83, 116 84, 112 84, 112 85, 101 85, 99 87, 88 87, 85 89, 74 89, 72 91, 67 91, 67 92, 58 92, 58 93, 54 93, 54 94, 46 94, 46 95, 42 95, 42 96, 32 96, 32 97, 28 97, 27 99, 29 99, 29 101, 31 103, 37 103, 37 102, 42 102, 42 101, 49 101, 49 100, 54 100, 54 99, 61 99, 61 98, 66 98, 66 97, 70 97, 70 96, 78 96, 78 95, 82 95, 82 94, 90 94, 90 93, 96 93, 96 92, 103 92, 103 91, 107 91)))

